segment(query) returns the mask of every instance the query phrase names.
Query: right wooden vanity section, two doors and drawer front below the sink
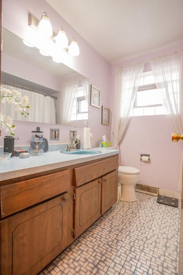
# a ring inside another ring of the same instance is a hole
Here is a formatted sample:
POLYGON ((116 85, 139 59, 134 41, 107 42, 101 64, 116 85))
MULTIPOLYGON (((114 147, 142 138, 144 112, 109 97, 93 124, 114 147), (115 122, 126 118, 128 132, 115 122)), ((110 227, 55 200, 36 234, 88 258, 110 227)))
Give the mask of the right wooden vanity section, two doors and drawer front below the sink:
POLYGON ((118 197, 117 168, 118 156, 114 156, 74 169, 76 187, 73 192, 73 237, 79 237, 116 203, 118 197))

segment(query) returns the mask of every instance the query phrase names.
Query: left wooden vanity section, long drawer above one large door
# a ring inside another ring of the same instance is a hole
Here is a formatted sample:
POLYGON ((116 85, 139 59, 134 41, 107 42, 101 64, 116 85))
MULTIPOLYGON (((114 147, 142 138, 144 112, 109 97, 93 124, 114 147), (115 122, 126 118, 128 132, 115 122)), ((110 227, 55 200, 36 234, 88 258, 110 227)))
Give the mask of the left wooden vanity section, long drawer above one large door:
POLYGON ((1 213, 9 214, 0 221, 0 274, 36 275, 70 244, 69 170, 4 185, 0 192, 1 213), (21 211, 15 213, 17 198, 21 211))

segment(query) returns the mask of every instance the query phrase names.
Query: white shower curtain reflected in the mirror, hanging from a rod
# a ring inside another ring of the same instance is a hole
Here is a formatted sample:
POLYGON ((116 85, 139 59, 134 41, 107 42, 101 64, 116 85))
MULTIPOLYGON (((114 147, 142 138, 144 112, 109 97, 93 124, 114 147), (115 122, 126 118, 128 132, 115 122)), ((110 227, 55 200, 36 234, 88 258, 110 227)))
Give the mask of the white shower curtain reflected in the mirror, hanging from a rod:
POLYGON ((40 123, 51 123, 55 124, 55 103, 54 99, 48 96, 35 93, 33 91, 26 91, 9 85, 5 85, 6 89, 20 91, 22 96, 27 95, 29 98, 29 106, 27 109, 29 115, 26 117, 21 113, 14 111, 14 107, 8 103, 1 103, 1 112, 5 115, 10 115, 13 120, 21 121, 33 121, 40 123))

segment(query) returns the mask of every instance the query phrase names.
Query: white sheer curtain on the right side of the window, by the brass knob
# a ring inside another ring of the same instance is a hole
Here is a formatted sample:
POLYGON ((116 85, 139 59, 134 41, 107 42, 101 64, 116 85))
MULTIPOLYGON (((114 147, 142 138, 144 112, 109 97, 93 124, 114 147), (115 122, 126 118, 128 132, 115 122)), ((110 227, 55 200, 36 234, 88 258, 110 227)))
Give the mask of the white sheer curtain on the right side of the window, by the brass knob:
MULTIPOLYGON (((150 64, 173 129, 183 134, 183 51, 153 58, 150 64)), ((183 147, 180 162, 179 192, 182 186, 183 147)))

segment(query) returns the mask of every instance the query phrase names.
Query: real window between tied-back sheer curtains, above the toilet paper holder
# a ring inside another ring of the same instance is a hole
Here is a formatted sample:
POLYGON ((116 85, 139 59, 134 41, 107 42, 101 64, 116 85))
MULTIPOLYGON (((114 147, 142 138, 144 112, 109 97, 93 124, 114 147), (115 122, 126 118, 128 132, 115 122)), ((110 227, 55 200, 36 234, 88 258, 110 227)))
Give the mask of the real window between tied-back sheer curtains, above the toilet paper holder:
POLYGON ((166 113, 152 71, 143 73, 131 116, 163 115, 166 113))

